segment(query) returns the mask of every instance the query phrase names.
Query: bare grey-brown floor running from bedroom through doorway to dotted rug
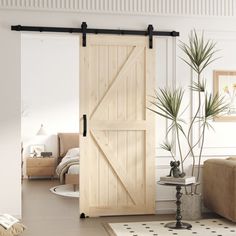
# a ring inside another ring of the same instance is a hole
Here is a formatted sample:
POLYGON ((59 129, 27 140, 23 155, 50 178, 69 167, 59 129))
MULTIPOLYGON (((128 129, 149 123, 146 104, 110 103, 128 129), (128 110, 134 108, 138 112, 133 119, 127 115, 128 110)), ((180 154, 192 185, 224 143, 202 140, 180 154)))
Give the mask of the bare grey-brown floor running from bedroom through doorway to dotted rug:
POLYGON ((173 215, 79 218, 79 200, 49 191, 57 180, 23 181, 24 236, 106 236, 104 222, 172 220, 173 215))

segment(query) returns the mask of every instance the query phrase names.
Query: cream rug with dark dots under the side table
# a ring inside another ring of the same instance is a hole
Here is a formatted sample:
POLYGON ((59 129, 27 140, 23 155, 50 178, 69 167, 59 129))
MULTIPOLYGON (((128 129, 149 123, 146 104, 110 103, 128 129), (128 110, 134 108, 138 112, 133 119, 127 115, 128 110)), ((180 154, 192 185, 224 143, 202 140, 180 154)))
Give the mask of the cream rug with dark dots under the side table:
POLYGON ((186 221, 191 229, 169 229, 164 227, 170 221, 108 223, 105 228, 110 236, 235 236, 236 224, 224 219, 203 219, 186 221))

